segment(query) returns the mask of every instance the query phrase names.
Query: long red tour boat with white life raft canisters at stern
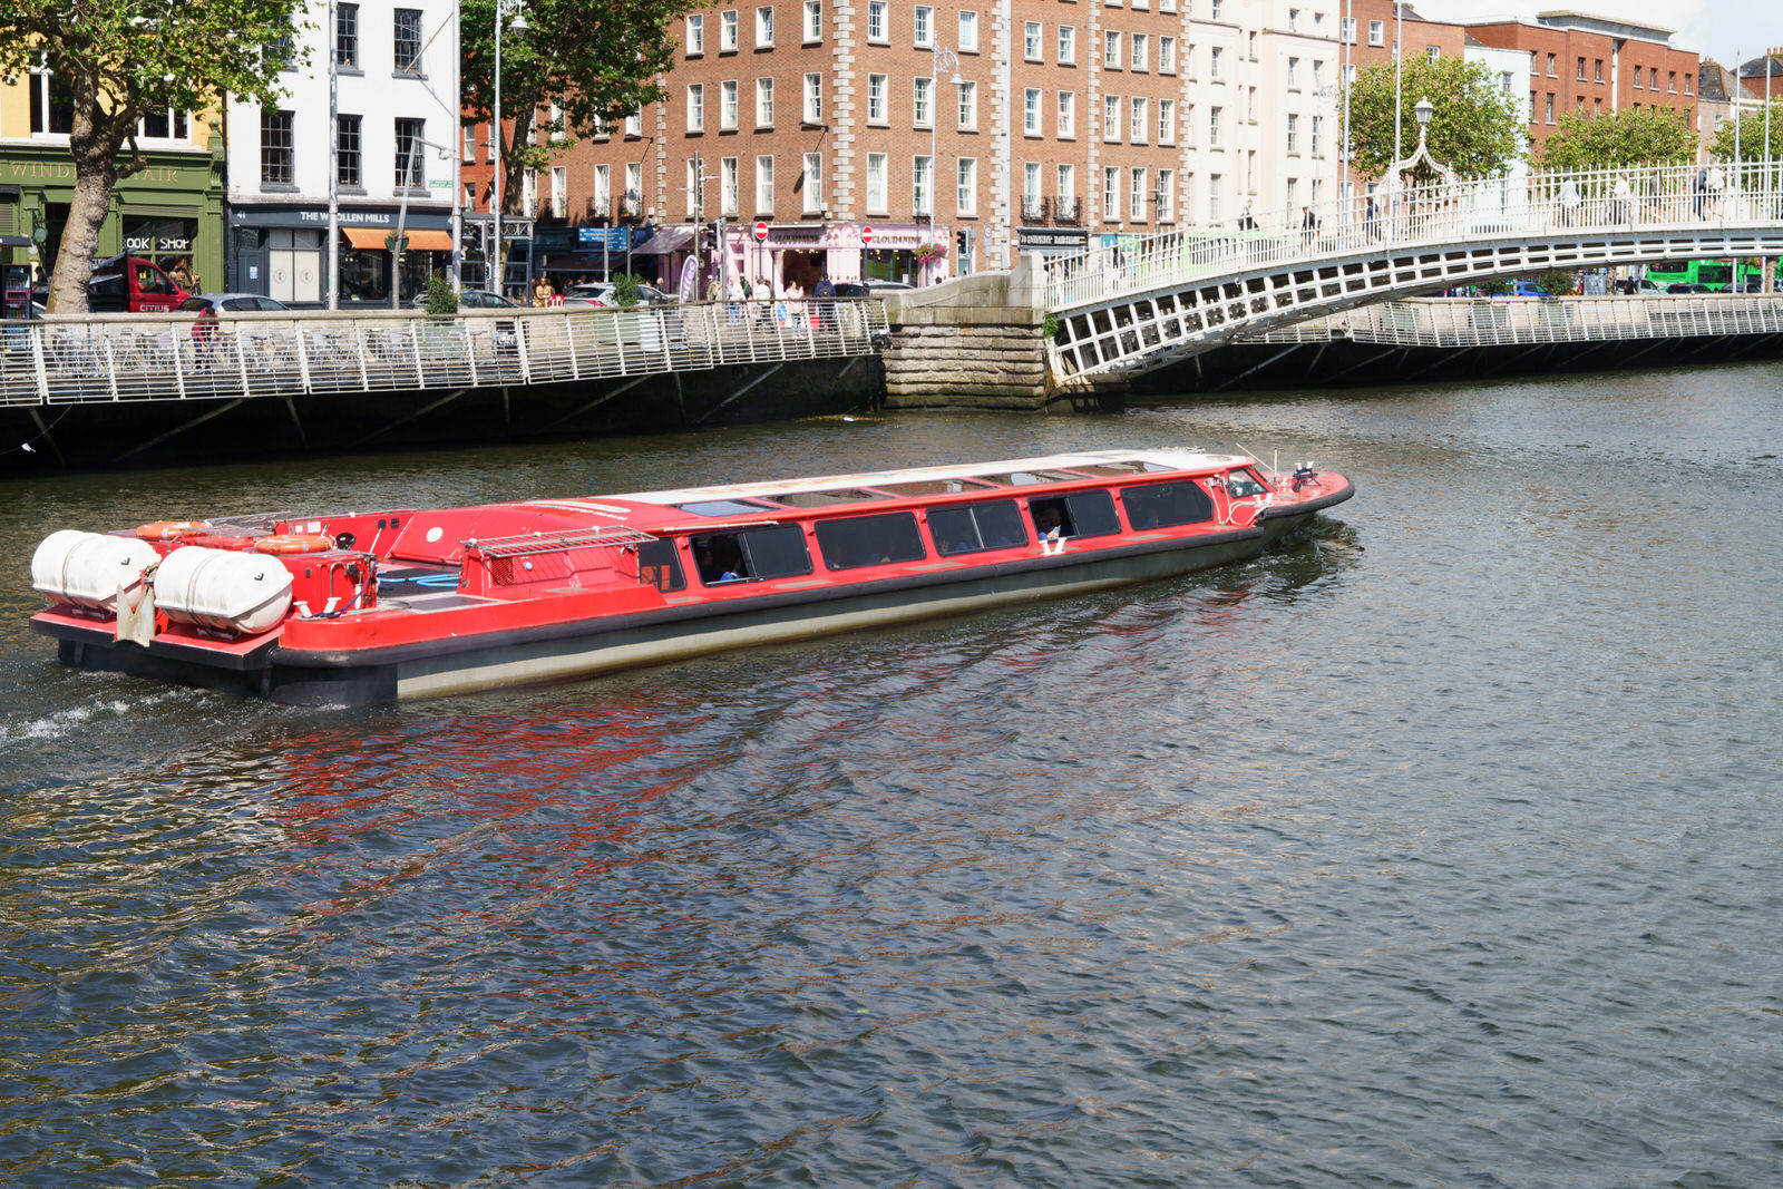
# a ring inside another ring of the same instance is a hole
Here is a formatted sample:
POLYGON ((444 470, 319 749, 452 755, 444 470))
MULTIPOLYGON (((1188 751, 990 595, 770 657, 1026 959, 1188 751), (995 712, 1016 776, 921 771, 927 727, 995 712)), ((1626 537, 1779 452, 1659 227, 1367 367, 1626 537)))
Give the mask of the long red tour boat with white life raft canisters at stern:
POLYGON ((1352 485, 1130 449, 52 533, 64 665, 355 704, 563 681, 1257 556, 1352 485))

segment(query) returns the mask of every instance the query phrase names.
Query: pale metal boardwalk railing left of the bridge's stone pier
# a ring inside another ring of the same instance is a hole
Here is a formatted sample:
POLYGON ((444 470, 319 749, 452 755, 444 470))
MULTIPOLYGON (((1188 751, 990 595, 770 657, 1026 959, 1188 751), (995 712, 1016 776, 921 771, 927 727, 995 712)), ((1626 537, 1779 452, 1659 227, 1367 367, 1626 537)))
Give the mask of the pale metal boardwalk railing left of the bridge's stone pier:
POLYGON ((881 299, 0 323, 0 405, 555 383, 868 355, 881 299))

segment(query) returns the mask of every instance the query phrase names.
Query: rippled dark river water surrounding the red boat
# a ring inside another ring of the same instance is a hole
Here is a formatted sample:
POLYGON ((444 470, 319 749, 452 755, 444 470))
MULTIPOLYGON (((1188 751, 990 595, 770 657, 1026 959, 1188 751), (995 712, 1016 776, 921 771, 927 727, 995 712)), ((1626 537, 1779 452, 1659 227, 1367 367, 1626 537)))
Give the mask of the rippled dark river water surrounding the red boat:
POLYGON ((0 1184, 1783 1178, 1783 369, 0 487, 0 1184), (62 670, 53 528, 1243 444, 1253 563, 546 690, 62 670))

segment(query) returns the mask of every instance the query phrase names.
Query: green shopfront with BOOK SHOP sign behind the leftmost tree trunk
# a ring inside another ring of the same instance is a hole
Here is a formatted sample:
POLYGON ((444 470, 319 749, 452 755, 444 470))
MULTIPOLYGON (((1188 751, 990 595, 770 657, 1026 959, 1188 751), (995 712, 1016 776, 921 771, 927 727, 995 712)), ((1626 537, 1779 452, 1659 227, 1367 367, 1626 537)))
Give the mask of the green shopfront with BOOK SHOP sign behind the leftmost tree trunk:
MULTIPOLYGON (((223 157, 144 152, 146 168, 112 189, 94 258, 128 251, 171 271, 182 258, 205 289, 223 287, 223 157)), ((0 262, 55 269, 75 162, 62 144, 0 146, 0 262)))

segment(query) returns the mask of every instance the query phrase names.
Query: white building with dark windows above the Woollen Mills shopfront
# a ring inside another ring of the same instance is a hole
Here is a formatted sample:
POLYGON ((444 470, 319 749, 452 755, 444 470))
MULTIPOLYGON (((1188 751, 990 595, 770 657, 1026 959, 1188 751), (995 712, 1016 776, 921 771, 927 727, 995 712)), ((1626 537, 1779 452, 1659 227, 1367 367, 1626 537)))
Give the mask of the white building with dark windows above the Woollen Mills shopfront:
MULTIPOLYGON (((458 153, 446 146, 458 144, 460 128, 456 7, 449 0, 401 0, 401 5, 310 0, 292 34, 296 45, 308 48, 308 61, 285 71, 278 105, 262 109, 230 100, 225 128, 232 291, 296 307, 326 305, 330 180, 339 205, 342 307, 390 305, 387 237, 398 223, 408 241, 405 301, 433 269, 451 267, 458 153), (328 118, 330 41, 335 155, 330 155, 328 118)), ((287 57, 296 62, 301 55, 287 57)))

